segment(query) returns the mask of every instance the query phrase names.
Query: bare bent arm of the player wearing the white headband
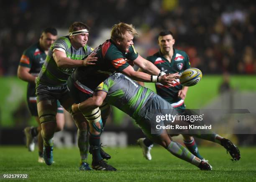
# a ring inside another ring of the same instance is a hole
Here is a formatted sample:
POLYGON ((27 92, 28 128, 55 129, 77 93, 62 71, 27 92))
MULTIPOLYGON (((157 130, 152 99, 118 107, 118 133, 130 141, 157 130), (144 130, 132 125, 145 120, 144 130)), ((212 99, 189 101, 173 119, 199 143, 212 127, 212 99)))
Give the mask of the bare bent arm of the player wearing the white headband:
POLYGON ((95 53, 90 54, 87 56, 84 60, 73 60, 70 58, 67 58, 67 55, 63 51, 54 50, 53 52, 53 58, 56 62, 57 66, 60 68, 72 68, 77 66, 89 66, 94 65, 95 61, 97 61, 97 57, 95 57, 95 53))

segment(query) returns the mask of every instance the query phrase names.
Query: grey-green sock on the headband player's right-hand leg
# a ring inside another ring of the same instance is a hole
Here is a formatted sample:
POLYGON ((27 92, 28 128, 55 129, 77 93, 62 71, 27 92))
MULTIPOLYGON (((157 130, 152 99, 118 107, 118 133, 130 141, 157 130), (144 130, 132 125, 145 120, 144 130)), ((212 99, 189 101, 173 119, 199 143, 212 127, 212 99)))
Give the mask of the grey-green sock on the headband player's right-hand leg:
POLYGON ((89 151, 88 132, 77 129, 77 144, 80 152, 80 164, 87 162, 89 151))

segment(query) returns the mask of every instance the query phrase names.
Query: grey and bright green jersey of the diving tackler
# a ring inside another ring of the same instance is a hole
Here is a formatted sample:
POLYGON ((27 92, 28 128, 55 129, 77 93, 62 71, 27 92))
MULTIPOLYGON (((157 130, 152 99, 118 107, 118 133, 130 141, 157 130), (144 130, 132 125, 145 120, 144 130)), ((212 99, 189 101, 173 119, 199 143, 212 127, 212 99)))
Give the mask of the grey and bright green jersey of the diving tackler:
POLYGON ((137 119, 139 112, 145 106, 151 95, 154 94, 148 88, 140 86, 128 76, 115 73, 102 82, 96 90, 107 93, 105 101, 116 106, 121 111, 137 119))

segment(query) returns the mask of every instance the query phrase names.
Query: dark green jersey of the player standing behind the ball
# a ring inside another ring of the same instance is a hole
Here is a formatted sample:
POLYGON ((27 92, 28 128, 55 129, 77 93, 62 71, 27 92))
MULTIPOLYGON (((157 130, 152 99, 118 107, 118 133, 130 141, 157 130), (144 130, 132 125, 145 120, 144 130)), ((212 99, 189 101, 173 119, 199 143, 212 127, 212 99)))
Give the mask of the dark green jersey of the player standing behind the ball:
MULTIPOLYGON (((189 57, 187 54, 184 51, 177 49, 173 50, 174 54, 172 56, 171 63, 164 58, 160 50, 153 56, 149 56, 146 59, 151 61, 157 68, 165 73, 182 73, 184 70, 190 68, 189 57)), ((161 83, 156 83, 155 85, 156 93, 172 104, 174 108, 184 104, 184 100, 178 97, 178 92, 182 89, 181 84, 175 83, 174 87, 164 86, 161 83)))

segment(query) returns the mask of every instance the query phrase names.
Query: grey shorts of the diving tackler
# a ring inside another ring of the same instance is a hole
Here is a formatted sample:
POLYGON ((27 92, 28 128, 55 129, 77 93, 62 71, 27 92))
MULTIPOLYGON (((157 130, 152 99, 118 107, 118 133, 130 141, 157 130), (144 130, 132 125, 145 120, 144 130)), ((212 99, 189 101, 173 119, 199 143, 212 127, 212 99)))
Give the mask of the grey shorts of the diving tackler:
POLYGON ((154 95, 148 100, 146 105, 141 109, 136 123, 141 127, 143 133, 149 138, 154 135, 160 135, 163 129, 157 129, 164 126, 164 121, 156 122, 157 116, 165 116, 166 114, 176 114, 177 111, 167 101, 158 95, 154 95), (156 127, 156 125, 158 125, 156 127))

